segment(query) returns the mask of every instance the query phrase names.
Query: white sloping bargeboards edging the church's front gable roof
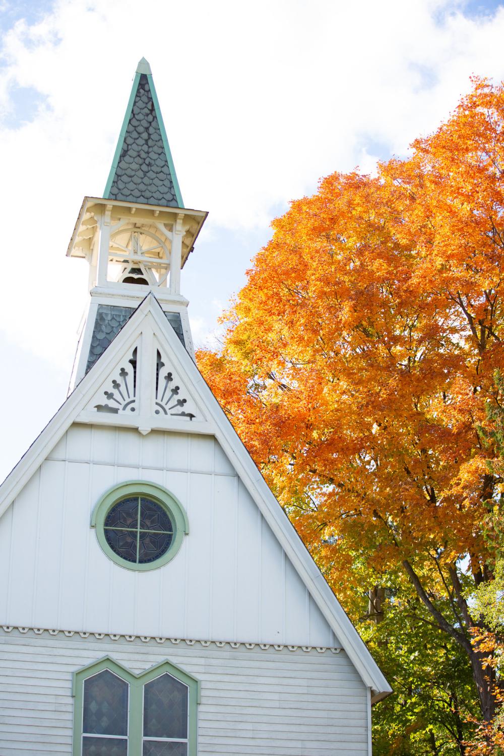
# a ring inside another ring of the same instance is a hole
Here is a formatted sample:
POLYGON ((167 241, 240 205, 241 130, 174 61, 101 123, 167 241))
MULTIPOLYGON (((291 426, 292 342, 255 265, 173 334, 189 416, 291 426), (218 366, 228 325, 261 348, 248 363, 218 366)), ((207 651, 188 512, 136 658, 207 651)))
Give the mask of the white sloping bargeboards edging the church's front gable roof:
MULTIPOLYGON (((105 350, 103 355, 91 367, 73 393, 66 399, 36 441, 14 467, 5 482, 0 486, 0 516, 8 509, 11 502, 25 485, 26 481, 36 472, 57 444, 66 430, 77 420, 79 413, 91 401, 97 384, 106 380, 122 352, 125 351, 132 333, 138 329, 145 318, 152 317, 156 325, 156 336, 167 343, 175 367, 187 378, 198 395, 199 401, 205 406, 209 419, 212 421, 212 432, 218 443, 227 454, 231 464, 237 470, 238 476, 247 491, 255 501, 267 525, 273 531, 277 541, 286 553, 290 562, 305 584, 320 612, 339 639, 342 648, 360 674, 363 683, 371 689, 372 701, 376 702, 388 696, 391 687, 385 676, 374 661, 372 655, 351 623, 345 610, 340 605, 335 594, 327 584, 310 553, 301 541, 297 531, 274 494, 271 492, 258 467, 246 450, 237 432, 233 429, 227 415, 213 395, 206 381, 199 373, 196 364, 187 354, 175 332, 166 321, 162 308, 156 298, 149 294, 141 305, 131 315, 131 318, 119 331, 116 338, 105 350)), ((187 429, 188 430, 188 429, 187 429)), ((186 432, 187 432, 186 430, 186 432)))

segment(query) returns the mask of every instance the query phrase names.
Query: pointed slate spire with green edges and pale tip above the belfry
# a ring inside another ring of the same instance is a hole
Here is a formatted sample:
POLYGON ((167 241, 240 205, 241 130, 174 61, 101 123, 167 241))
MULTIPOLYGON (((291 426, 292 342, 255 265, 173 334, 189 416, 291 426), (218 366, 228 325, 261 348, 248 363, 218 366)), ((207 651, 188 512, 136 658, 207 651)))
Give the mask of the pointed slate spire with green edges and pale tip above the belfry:
POLYGON ((144 57, 135 73, 104 198, 184 207, 153 76, 144 57))

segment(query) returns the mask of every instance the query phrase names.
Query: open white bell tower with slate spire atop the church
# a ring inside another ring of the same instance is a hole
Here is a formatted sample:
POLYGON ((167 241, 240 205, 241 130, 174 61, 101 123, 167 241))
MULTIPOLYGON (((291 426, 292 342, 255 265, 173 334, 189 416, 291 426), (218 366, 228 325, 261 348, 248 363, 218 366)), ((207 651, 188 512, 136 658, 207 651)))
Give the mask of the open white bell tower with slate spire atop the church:
POLYGON ((66 253, 88 262, 91 297, 72 388, 148 293, 194 356, 181 268, 206 215, 184 207, 152 73, 142 58, 104 197, 84 198, 66 253))

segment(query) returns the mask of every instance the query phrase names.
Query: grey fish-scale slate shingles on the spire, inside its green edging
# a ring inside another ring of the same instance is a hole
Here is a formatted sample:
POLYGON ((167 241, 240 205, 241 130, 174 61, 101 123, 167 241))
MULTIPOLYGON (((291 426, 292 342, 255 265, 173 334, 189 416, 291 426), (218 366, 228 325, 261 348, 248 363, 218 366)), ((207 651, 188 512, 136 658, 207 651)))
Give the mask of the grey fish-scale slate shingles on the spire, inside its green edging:
POLYGON ((138 80, 108 198, 178 207, 149 77, 144 73, 138 80))

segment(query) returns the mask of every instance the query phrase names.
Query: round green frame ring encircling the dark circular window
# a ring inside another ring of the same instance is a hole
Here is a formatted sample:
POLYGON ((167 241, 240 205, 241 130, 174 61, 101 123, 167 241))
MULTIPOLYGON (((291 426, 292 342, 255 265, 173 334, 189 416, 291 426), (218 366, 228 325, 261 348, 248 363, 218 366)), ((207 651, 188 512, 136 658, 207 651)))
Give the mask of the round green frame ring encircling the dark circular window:
POLYGON ((109 490, 105 491, 103 496, 100 497, 100 500, 97 501, 91 515, 91 528, 94 528, 96 531, 97 541, 98 544, 100 544, 101 550, 109 557, 109 559, 116 562, 116 565, 137 572, 145 572, 151 569, 159 569, 159 567, 167 564, 177 556, 184 541, 184 535, 189 533, 189 520, 187 519, 184 507, 182 507, 178 498, 166 488, 163 488, 156 483, 130 480, 120 485, 114 485, 113 488, 109 488, 109 490), (105 538, 105 519, 112 507, 122 499, 136 496, 139 498, 145 496, 158 503, 165 512, 168 513, 174 528, 172 543, 170 544, 169 549, 153 562, 128 562, 126 559, 122 559, 119 554, 116 554, 116 552, 110 548, 107 539, 105 538))

